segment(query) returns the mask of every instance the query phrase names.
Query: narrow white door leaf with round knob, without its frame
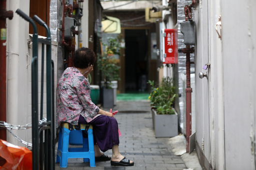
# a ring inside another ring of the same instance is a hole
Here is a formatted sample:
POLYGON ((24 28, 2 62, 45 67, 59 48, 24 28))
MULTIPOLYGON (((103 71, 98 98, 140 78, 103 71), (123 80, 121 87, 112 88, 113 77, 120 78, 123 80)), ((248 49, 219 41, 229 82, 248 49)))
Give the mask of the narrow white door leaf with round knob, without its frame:
MULTIPOLYGON (((195 45, 195 115, 196 141, 204 158, 209 160, 209 81, 206 77, 200 79, 199 72, 205 73, 202 67, 209 63, 208 48, 208 0, 202 0, 196 5, 194 20, 196 24, 195 45)), ((209 69, 207 69, 208 71, 209 69)), ((204 160, 205 162, 206 160, 204 160)))

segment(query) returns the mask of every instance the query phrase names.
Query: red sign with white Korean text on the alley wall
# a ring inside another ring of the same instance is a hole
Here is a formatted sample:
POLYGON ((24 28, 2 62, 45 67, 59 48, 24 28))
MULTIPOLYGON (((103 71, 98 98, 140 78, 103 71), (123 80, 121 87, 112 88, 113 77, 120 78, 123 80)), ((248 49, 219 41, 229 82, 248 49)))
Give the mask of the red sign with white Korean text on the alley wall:
POLYGON ((178 63, 177 29, 164 29, 164 64, 178 63))

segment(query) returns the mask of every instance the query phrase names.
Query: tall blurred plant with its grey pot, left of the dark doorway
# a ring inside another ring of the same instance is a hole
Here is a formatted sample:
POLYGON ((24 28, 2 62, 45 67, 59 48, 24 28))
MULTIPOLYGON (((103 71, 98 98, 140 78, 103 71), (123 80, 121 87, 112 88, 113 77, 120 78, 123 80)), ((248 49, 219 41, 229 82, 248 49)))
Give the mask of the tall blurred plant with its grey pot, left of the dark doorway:
MULTIPOLYGON (((102 103, 104 108, 111 108, 114 105, 113 81, 120 80, 119 66, 114 55, 119 55, 119 41, 117 38, 108 37, 105 52, 97 57, 97 68, 101 71, 103 88, 102 103)), ((117 83, 116 83, 117 84, 117 83)), ((115 88, 116 90, 116 88, 115 88)), ((116 94, 115 94, 116 95, 116 94)))

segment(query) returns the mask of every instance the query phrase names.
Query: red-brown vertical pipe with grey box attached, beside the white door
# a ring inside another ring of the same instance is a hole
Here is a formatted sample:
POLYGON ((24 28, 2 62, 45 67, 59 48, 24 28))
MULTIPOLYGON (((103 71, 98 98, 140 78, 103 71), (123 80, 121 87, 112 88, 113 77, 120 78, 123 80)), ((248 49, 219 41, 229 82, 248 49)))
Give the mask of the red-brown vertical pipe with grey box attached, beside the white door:
POLYGON ((194 52, 194 48, 190 48, 190 45, 195 45, 195 32, 194 32, 194 21, 192 18, 192 6, 195 5, 195 0, 189 5, 185 5, 185 21, 180 23, 180 31, 184 34, 184 44, 186 48, 181 51, 186 54, 186 153, 189 153, 189 137, 191 136, 191 93, 192 88, 190 85, 190 53, 194 52))

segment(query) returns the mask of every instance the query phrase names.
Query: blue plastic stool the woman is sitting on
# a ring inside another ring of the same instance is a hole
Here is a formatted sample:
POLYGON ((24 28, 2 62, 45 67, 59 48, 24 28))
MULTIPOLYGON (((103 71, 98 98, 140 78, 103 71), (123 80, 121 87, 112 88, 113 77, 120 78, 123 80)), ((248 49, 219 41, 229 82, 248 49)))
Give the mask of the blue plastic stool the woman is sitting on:
POLYGON ((61 124, 58 134, 56 163, 59 163, 60 168, 66 168, 68 158, 83 158, 83 162, 89 162, 90 167, 95 167, 92 125, 80 124, 73 126, 68 123, 61 124), (68 148, 69 133, 71 130, 81 130, 88 134, 88 138, 82 138, 82 148, 68 148))

